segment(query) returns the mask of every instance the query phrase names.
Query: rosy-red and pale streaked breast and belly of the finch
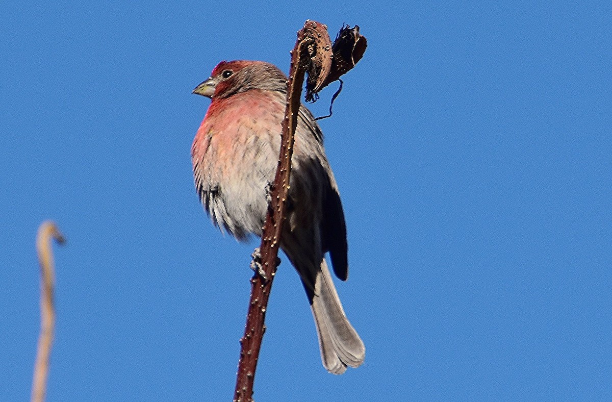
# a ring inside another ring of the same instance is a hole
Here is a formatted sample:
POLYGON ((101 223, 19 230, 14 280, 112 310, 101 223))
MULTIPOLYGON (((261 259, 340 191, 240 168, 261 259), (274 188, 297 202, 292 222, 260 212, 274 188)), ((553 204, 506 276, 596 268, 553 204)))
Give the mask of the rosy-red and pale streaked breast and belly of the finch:
POLYGON ((195 184, 211 218, 241 239, 260 233, 284 111, 268 91, 213 100, 192 146, 195 184))

